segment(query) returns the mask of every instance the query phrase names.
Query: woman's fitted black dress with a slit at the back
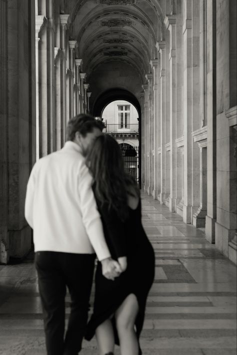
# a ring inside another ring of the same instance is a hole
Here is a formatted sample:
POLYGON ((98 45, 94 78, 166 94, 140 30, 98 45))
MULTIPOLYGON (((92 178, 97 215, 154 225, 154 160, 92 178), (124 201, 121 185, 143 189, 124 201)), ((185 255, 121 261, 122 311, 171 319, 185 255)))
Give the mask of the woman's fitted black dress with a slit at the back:
MULTIPOLYGON (((96 327, 111 317, 126 296, 135 294, 139 311, 135 321, 136 335, 139 339, 144 321, 147 294, 154 279, 154 251, 141 224, 141 202, 136 209, 129 209, 129 215, 122 222, 115 210, 97 200, 101 215, 104 236, 112 258, 127 256, 127 268, 114 280, 102 275, 101 263, 95 272, 95 297, 93 314, 88 322, 85 339, 90 340, 96 327)), ((115 343, 119 344, 112 318, 115 343)), ((139 352, 141 354, 141 351, 139 352)))

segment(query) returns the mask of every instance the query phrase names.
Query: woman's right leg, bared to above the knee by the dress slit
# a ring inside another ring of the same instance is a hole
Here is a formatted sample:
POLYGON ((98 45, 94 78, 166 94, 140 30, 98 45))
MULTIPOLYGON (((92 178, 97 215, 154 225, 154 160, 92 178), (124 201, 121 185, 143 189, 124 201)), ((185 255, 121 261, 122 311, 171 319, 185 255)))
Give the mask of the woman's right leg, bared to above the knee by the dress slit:
POLYGON ((136 296, 129 294, 115 312, 121 355, 138 355, 134 323, 138 312, 136 296))

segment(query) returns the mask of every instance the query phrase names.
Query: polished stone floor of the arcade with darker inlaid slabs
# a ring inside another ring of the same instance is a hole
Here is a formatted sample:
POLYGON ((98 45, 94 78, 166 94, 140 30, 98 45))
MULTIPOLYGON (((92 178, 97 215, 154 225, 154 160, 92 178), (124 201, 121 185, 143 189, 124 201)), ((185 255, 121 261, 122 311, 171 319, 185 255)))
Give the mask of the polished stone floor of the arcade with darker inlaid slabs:
MULTIPOLYGON (((142 196, 142 211, 156 254, 141 336, 144 355, 236 355, 235 265, 201 230, 152 197, 142 196)), ((69 297, 67 302, 69 307, 69 297)), ((32 255, 0 265, 0 354, 45 354, 42 328, 32 255)), ((95 340, 84 341, 81 355, 96 354, 95 340)))

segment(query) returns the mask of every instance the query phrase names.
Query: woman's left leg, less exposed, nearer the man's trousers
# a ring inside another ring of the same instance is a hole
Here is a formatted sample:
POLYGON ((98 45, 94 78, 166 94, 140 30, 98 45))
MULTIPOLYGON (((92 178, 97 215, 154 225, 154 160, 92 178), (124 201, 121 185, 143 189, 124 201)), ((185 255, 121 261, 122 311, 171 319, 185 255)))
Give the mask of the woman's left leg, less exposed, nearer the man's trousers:
POLYGON ((113 353, 114 334, 110 319, 106 319, 95 330, 99 355, 113 353))

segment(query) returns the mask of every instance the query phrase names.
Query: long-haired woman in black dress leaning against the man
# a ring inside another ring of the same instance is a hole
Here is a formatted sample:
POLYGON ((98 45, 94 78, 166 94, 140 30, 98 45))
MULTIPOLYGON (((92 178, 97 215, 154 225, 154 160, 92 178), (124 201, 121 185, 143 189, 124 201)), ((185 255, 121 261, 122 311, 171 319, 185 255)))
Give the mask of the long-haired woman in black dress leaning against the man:
POLYGON ((141 224, 139 190, 125 173, 119 145, 110 135, 96 138, 87 166, 111 256, 126 269, 110 280, 102 275, 98 262, 93 314, 85 338, 96 334, 99 355, 112 355, 114 343, 120 345, 121 355, 138 355, 154 278, 154 251, 141 224))

